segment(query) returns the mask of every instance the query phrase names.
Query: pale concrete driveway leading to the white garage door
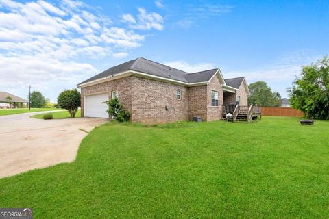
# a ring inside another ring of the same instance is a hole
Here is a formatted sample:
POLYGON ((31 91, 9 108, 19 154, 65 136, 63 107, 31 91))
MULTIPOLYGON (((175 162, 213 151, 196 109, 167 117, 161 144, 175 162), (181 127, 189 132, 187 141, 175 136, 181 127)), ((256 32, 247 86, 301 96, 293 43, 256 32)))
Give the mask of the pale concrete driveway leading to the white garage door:
POLYGON ((106 122, 103 118, 29 118, 42 113, 0 116, 0 177, 72 162, 86 131, 106 122))

